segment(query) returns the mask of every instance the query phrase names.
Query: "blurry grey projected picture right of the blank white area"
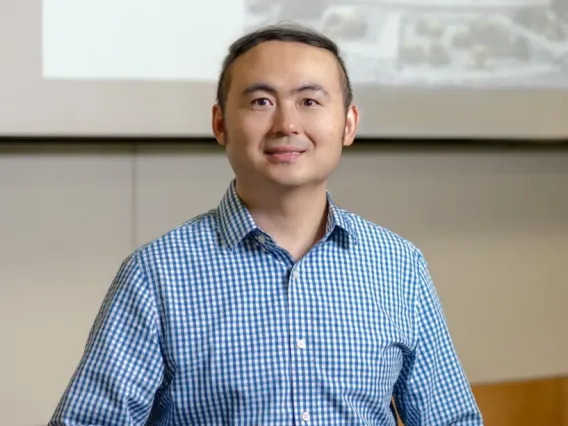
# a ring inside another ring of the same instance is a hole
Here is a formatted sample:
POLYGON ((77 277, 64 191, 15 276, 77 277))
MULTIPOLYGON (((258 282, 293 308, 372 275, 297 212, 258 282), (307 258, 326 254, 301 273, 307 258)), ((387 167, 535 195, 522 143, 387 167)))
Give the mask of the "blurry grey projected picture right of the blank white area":
POLYGON ((338 42, 355 83, 568 86, 568 1, 247 0, 338 42))

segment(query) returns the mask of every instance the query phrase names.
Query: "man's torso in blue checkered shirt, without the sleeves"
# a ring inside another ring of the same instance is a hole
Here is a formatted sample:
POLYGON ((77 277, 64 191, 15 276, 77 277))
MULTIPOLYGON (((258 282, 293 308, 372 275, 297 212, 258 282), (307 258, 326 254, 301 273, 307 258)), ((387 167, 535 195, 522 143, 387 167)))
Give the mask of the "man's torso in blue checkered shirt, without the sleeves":
POLYGON ((414 253, 336 215, 297 263, 218 211, 139 252, 166 363, 155 414, 167 406, 183 425, 395 424, 391 395, 414 339, 414 253))

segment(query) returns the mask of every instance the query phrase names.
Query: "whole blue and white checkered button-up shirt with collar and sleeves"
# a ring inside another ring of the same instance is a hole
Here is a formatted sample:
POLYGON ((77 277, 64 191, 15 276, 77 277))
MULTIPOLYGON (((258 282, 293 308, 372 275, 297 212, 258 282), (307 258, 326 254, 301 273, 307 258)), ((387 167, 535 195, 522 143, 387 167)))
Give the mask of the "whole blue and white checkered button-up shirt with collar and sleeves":
POLYGON ((482 425, 421 252, 328 205, 298 262, 234 181, 136 250, 49 425, 482 425))

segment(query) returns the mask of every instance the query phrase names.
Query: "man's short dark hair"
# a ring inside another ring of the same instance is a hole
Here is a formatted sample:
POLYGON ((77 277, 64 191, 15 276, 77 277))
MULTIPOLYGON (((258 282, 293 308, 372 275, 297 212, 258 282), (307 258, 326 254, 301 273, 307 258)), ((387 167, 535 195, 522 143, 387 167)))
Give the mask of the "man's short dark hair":
POLYGON ((267 41, 285 41, 303 43, 313 47, 319 47, 331 52, 337 60, 341 71, 341 87, 343 91, 343 102, 347 110, 353 101, 353 90, 349 80, 349 74, 345 67, 345 62, 341 58, 337 44, 327 36, 294 23, 278 23, 268 25, 252 31, 237 39, 229 47, 229 52, 223 61, 219 81, 217 83, 217 103, 221 110, 225 109, 227 95, 231 86, 231 67, 241 55, 252 48, 267 41))

